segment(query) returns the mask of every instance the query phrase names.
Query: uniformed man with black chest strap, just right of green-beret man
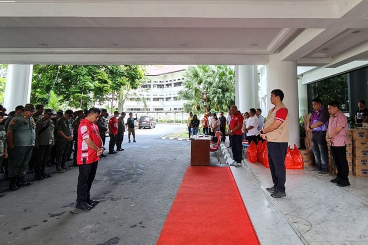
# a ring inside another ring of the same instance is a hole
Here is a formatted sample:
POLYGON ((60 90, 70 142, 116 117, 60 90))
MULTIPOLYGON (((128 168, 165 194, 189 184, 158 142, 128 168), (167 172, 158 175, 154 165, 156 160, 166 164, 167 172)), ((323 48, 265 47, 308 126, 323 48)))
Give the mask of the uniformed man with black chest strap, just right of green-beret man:
POLYGON ((36 122, 36 162, 35 162, 35 180, 43 180, 51 177, 45 173, 47 162, 50 159, 51 147, 54 144, 54 122, 51 109, 46 109, 43 118, 36 122))

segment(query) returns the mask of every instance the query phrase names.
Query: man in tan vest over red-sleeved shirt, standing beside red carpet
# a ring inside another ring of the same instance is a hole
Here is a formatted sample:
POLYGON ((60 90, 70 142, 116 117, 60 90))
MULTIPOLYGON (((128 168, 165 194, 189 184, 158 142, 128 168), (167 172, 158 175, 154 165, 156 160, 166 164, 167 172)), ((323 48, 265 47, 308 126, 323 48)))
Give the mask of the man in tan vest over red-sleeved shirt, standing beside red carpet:
POLYGON ((287 142, 289 141, 289 115, 286 106, 282 102, 284 93, 280 89, 272 90, 271 103, 275 105, 268 112, 267 120, 259 136, 267 140, 268 162, 273 181, 273 187, 266 188, 271 192, 271 197, 285 197, 285 156, 287 142))

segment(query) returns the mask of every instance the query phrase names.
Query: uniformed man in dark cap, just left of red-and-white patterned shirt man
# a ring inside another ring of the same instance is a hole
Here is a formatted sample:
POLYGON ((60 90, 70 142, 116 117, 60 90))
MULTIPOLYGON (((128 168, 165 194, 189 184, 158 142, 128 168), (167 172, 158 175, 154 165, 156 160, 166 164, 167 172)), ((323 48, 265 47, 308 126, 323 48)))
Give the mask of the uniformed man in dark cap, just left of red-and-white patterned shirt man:
POLYGON ((56 173, 63 173, 65 170, 72 169, 66 166, 67 156, 70 149, 70 141, 73 140, 73 127, 70 118, 72 110, 66 110, 64 116, 56 121, 56 173))

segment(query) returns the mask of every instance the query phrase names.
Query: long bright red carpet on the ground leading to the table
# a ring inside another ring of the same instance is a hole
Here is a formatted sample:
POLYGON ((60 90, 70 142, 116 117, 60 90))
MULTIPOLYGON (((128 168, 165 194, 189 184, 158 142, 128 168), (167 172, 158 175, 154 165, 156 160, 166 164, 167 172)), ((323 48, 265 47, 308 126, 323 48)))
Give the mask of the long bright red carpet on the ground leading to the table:
POLYGON ((229 167, 188 167, 157 244, 259 244, 229 167))

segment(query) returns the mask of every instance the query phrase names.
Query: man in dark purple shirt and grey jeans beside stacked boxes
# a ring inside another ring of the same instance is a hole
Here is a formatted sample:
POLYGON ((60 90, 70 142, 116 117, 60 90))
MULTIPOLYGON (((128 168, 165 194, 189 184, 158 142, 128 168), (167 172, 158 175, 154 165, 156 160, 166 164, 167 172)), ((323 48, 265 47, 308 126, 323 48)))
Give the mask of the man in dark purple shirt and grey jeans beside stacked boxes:
POLYGON ((328 175, 328 148, 326 143, 326 131, 328 128, 328 120, 330 115, 328 110, 323 107, 320 98, 312 100, 313 113, 309 120, 307 131, 312 132, 312 151, 316 160, 316 169, 312 169, 312 173, 318 175, 328 175))

